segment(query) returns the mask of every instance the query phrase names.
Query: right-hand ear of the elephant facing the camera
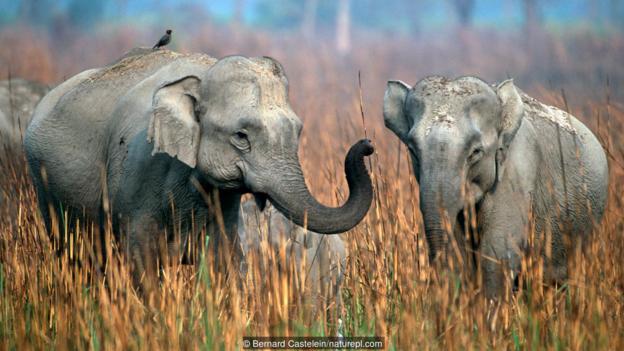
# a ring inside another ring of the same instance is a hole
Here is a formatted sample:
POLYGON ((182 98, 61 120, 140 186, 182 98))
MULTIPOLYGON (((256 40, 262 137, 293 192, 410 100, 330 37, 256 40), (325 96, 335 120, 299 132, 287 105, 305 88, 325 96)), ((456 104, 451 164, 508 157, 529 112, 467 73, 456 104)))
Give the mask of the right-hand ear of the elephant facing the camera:
POLYGON ((507 157, 507 150, 516 136, 524 116, 524 103, 518 93, 513 79, 508 79, 498 85, 496 94, 501 101, 501 115, 499 121, 499 146, 496 152, 496 176, 500 181, 503 175, 503 162, 507 157))

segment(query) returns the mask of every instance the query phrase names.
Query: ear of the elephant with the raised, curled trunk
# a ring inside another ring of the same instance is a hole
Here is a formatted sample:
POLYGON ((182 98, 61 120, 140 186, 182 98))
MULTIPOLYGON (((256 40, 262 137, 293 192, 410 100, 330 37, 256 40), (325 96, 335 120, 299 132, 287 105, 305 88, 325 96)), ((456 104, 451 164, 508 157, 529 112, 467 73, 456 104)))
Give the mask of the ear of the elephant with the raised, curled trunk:
POLYGON ((186 76, 154 92, 147 132, 147 141, 154 144, 152 155, 164 152, 195 167, 200 140, 196 117, 200 82, 196 76, 186 76))

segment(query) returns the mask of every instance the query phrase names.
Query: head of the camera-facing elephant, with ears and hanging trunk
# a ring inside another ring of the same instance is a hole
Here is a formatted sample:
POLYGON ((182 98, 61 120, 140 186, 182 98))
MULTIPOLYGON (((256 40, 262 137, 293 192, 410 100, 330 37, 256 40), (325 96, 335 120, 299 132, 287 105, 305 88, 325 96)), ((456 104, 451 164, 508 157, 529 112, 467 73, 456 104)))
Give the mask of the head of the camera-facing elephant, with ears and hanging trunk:
POLYGON ((433 260, 463 224, 463 209, 501 180, 522 123, 522 99, 511 80, 492 88, 473 77, 429 77, 413 88, 388 82, 383 113, 410 150, 433 260))

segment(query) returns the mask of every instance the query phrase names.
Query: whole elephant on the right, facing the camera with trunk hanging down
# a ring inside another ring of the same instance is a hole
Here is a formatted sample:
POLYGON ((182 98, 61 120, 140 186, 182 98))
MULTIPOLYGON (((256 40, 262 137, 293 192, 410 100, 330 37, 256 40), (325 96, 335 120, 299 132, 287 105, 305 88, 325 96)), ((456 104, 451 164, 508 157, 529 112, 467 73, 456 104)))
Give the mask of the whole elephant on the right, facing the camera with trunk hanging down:
POLYGON ((477 250, 486 292, 496 296, 502 267, 512 277, 520 270, 532 212, 545 279, 566 277, 566 237, 586 237, 607 197, 607 159, 587 127, 511 80, 492 87, 474 77, 429 77, 413 88, 390 81, 384 120, 410 150, 430 260, 453 252, 451 238, 464 264, 477 250), (465 215, 470 208, 476 217, 465 215), (471 218, 478 235, 466 238, 471 218))

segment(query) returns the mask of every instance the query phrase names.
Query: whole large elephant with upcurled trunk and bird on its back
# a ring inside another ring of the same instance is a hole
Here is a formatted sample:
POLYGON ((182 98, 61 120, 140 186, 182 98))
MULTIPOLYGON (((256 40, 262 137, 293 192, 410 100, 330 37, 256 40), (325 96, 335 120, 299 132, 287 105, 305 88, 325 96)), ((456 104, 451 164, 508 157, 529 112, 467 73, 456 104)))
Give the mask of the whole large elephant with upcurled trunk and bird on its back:
MULTIPOLYGON (((301 130, 276 60, 137 48, 47 94, 24 145, 48 230, 47 204, 69 213, 69 223, 105 228, 110 218, 138 278, 154 272, 159 253, 185 252, 203 229, 215 247, 236 243, 245 193, 319 233, 356 226, 372 201, 364 164, 372 143, 350 148, 350 196, 327 207, 306 186, 301 130)), ((229 248, 240 256, 239 244, 229 248)))

